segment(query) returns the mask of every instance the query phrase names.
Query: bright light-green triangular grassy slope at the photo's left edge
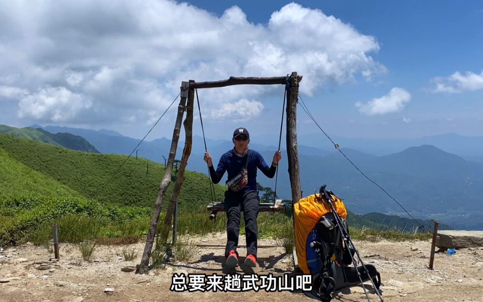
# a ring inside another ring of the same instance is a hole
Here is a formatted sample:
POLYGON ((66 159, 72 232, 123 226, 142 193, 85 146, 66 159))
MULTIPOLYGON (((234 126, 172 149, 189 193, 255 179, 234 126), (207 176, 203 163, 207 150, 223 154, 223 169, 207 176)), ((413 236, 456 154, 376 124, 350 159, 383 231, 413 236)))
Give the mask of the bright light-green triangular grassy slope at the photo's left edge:
POLYGON ((0 201, 16 195, 81 197, 75 190, 30 169, 0 148, 0 201))

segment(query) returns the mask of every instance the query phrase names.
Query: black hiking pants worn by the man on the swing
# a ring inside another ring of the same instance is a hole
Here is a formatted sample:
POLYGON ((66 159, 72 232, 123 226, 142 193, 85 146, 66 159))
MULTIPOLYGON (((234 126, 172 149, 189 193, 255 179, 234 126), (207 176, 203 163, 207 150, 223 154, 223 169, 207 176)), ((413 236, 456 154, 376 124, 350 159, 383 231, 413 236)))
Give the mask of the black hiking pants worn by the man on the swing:
POLYGON ((256 257, 257 224, 256 218, 260 210, 260 197, 258 191, 233 192, 228 189, 225 192, 225 212, 227 213, 227 247, 225 257, 234 250, 238 256, 238 236, 240 234, 241 211, 245 220, 245 236, 247 255, 256 257))

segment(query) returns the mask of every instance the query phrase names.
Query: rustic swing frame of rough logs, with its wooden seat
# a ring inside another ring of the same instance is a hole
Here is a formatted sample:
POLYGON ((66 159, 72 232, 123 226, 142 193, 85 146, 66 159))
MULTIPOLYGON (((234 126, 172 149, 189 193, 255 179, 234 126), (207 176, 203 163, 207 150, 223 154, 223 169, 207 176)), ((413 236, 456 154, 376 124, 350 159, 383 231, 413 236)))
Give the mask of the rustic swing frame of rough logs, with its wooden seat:
MULTIPOLYGON (((193 108, 195 100, 195 89, 198 88, 217 88, 226 87, 233 85, 290 85, 290 89, 287 90, 286 94, 286 148, 287 148, 287 160, 288 160, 288 174, 290 178, 290 186, 292 190, 292 212, 294 211, 294 204, 297 203, 302 198, 302 191, 300 188, 300 169, 298 161, 298 144, 297 144, 297 103, 298 103, 298 86, 302 76, 298 75, 297 72, 292 72, 288 76, 279 77, 230 77, 227 80, 216 81, 216 82, 199 82, 196 83, 194 80, 189 80, 188 82, 183 81, 180 87, 180 102, 178 105, 178 114, 176 116, 176 122, 174 125, 173 138, 171 140, 170 155, 168 162, 165 167, 165 175, 159 185, 158 195, 156 197, 156 202, 153 210, 153 217, 151 219, 151 224, 148 230, 148 235, 146 238, 146 244, 144 246, 144 252, 142 254, 141 263, 138 267, 139 273, 148 272, 149 259, 151 258, 151 253, 153 250, 153 244, 156 236, 156 229, 159 222, 159 215, 163 208, 163 201, 165 197, 166 190, 171 182, 171 172, 173 168, 174 158, 176 156, 176 149, 178 146, 181 123, 183 120, 183 115, 186 112, 185 122, 183 123, 185 128, 185 147, 183 149, 183 155, 181 157, 180 166, 178 169, 178 176, 171 194, 170 201, 168 203, 168 208, 166 211, 166 216, 164 220, 165 226, 170 227, 171 222, 173 226, 173 242, 176 241, 176 232, 178 225, 178 195, 183 185, 183 180, 185 176, 185 168, 188 162, 188 158, 191 154, 191 147, 193 141, 193 108), (288 83, 287 83, 288 82, 288 83)), ((286 89, 286 88, 285 88, 286 89)), ((284 206, 281 206, 282 200, 277 200, 275 206, 272 203, 261 203, 260 211, 285 211, 284 206)), ((212 211, 212 215, 216 215, 216 212, 224 211, 223 203, 217 202, 214 205, 211 204, 207 207, 207 210, 212 211)), ((292 213, 293 214, 293 213, 292 213)), ((214 217, 214 216, 213 216, 214 217)), ((295 226, 295 222, 294 222, 295 226)), ((167 234, 165 235, 167 237, 167 234)), ((167 240, 167 238, 164 238, 167 240)), ((293 253, 295 261, 295 270, 298 271, 297 265, 297 254, 296 250, 293 253)))

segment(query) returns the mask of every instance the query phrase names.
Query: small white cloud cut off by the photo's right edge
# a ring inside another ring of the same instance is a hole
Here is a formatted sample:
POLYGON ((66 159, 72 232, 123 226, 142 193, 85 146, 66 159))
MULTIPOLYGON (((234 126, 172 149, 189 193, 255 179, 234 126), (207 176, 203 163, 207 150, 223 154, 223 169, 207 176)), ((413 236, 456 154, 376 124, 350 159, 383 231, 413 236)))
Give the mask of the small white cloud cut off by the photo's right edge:
POLYGON ((483 71, 480 74, 466 72, 465 75, 455 72, 448 77, 436 77, 433 79, 436 87, 433 92, 461 93, 483 89, 483 71))

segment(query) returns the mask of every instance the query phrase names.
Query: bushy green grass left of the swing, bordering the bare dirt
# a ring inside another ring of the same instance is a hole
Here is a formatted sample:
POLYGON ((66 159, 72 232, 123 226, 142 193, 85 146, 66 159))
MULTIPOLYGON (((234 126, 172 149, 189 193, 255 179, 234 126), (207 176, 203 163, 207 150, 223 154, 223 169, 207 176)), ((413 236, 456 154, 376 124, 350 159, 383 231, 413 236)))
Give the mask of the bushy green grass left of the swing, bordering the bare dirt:
POLYGON ((0 201, 0 245, 45 245, 57 224, 59 242, 135 243, 146 234, 152 209, 105 206, 74 198, 12 198, 0 201))

